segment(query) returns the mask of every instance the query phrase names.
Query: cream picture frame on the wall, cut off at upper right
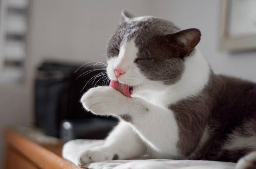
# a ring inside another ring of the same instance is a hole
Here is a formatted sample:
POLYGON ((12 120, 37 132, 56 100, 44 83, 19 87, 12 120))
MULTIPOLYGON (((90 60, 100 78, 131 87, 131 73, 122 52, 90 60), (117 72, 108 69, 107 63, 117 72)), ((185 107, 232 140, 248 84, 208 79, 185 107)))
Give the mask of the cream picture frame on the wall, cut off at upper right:
MULTIPOLYGON (((231 3, 234 3, 234 2, 248 3, 249 1, 251 0, 240 0, 240 1, 222 0, 222 12, 221 12, 221 22, 220 22, 220 43, 219 43, 220 50, 229 50, 229 51, 256 50, 256 10, 255 10, 255 16, 253 17, 253 20, 252 20, 253 25, 250 25, 253 27, 251 28, 250 31, 248 31, 248 33, 246 33, 245 29, 244 28, 242 29, 242 27, 241 27, 241 30, 239 30, 239 19, 237 18, 240 18, 241 20, 241 17, 235 18, 238 21, 234 19, 232 20, 231 18, 232 17, 231 15, 237 15, 236 13, 234 13, 234 11, 231 12, 233 10, 232 7, 236 8, 236 4, 232 5, 231 3), (233 26, 234 24, 232 25, 231 22, 235 22, 235 24, 238 26, 233 26), (233 27, 236 27, 236 30, 232 30, 232 27, 230 30, 231 25, 233 27), (255 26, 255 32, 254 32, 254 26, 255 26)), ((254 2, 256 5, 256 1, 254 2)), ((250 2, 250 3, 254 3, 254 2, 250 2)), ((246 7, 246 5, 242 5, 242 6, 246 7)), ((255 9, 256 9, 256 6, 255 6, 255 9)), ((239 12, 241 12, 241 10, 247 10, 247 9, 243 9, 240 7, 239 12)), ((248 18, 246 17, 246 19, 248 18)))

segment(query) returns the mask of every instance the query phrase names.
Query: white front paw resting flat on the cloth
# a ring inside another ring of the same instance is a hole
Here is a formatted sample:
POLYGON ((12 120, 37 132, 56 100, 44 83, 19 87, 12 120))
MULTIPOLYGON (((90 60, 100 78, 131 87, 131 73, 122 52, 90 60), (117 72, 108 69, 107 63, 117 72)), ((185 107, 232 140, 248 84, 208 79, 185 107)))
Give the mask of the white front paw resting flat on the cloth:
POLYGON ((100 147, 95 147, 92 149, 87 149, 82 153, 77 154, 75 158, 75 164, 77 166, 84 166, 85 164, 93 162, 102 162, 112 160, 115 157, 115 154, 111 152, 106 152, 100 147))

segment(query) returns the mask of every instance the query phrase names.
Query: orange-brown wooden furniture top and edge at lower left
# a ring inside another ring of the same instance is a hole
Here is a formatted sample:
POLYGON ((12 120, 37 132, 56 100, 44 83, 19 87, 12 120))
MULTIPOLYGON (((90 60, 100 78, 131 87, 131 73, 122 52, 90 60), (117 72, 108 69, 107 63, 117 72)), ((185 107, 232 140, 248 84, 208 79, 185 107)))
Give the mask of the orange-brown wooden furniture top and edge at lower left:
MULTIPOLYGON (((61 149, 64 142, 59 141, 57 144, 37 144, 31 141, 27 137, 19 134, 14 129, 5 130, 5 141, 8 144, 7 155, 6 155, 6 165, 5 167, 11 168, 10 162, 12 159, 26 159, 24 162, 19 160, 24 166, 18 167, 25 169, 83 169, 77 167, 71 162, 63 159, 61 157, 61 149), (15 151, 18 152, 15 154, 15 151), (17 154, 21 154, 18 156, 17 154), (9 164, 7 162, 9 161, 9 164), (28 164, 30 163, 30 164, 28 164), (8 166, 9 165, 9 166, 8 166), (34 168, 33 168, 34 167, 34 168)), ((15 165, 15 164, 14 164, 15 165)), ((7 168, 7 169, 9 169, 7 168)))

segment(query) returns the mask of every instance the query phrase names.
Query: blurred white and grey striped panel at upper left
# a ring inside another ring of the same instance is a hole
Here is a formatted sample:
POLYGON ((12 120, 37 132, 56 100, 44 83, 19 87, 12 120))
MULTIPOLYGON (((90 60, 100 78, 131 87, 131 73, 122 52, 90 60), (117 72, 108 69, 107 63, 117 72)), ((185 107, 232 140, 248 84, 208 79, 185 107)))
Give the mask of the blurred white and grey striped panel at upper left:
POLYGON ((0 0, 0 82, 22 82, 29 0, 0 0))

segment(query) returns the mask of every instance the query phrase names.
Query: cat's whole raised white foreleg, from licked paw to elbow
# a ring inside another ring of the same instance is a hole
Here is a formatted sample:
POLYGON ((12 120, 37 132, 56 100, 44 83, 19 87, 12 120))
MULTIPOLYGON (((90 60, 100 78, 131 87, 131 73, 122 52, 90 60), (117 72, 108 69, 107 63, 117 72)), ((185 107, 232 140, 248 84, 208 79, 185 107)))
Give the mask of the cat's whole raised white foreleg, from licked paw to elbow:
POLYGON ((112 114, 132 124, 155 150, 152 157, 173 158, 178 151, 178 126, 174 113, 141 98, 128 98, 111 87, 96 87, 85 93, 83 106, 95 114, 112 114))

